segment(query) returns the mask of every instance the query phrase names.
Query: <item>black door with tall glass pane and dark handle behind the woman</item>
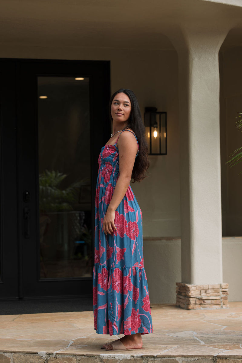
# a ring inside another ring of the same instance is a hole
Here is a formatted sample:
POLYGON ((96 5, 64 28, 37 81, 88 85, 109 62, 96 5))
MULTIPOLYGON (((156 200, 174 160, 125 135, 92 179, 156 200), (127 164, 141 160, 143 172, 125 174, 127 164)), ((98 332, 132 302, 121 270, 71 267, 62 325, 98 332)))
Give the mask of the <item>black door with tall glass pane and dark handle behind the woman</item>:
POLYGON ((16 72, 19 296, 89 295, 109 64, 16 60, 16 72))

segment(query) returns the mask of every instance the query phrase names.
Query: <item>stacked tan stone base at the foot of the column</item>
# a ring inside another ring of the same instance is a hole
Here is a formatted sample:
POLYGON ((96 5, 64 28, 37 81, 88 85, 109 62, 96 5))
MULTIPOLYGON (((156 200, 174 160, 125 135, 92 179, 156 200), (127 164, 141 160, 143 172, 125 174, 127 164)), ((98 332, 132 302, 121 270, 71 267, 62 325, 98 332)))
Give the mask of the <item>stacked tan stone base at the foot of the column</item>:
POLYGON ((229 284, 190 285, 176 282, 176 306, 183 309, 229 307, 229 284))

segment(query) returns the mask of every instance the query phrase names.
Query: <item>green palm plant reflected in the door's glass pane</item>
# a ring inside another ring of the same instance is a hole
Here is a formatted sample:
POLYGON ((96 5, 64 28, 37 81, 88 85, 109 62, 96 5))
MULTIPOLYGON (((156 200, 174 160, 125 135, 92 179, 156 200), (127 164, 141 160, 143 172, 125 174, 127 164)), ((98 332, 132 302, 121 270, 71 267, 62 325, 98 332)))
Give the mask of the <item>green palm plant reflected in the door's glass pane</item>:
POLYGON ((60 184, 66 174, 58 171, 45 170, 39 174, 39 200, 40 211, 61 212, 73 210, 72 202, 77 200, 79 188, 89 184, 89 178, 75 181, 66 189, 61 189, 60 184))

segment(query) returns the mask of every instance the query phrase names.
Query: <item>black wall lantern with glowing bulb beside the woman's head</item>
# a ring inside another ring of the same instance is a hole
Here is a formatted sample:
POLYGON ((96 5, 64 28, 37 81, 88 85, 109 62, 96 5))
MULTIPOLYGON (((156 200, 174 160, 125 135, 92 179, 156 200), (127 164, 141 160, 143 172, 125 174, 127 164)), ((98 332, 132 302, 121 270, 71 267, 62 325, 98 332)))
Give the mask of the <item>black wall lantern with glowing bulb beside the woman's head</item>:
POLYGON ((167 155, 167 113, 156 107, 144 109, 145 137, 149 155, 167 155))

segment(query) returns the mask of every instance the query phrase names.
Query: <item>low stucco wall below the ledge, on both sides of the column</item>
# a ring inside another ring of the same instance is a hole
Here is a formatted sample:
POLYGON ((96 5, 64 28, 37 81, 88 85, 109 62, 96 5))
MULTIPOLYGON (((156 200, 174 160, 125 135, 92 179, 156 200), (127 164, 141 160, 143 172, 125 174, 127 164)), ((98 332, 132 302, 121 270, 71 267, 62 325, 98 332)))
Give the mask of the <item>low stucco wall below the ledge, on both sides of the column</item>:
MULTIPOLYGON (((242 237, 223 237, 223 282, 229 301, 242 301, 242 237)), ((152 303, 175 303, 176 282, 181 282, 181 240, 144 240, 144 267, 152 303)))

